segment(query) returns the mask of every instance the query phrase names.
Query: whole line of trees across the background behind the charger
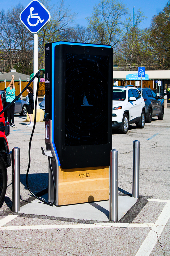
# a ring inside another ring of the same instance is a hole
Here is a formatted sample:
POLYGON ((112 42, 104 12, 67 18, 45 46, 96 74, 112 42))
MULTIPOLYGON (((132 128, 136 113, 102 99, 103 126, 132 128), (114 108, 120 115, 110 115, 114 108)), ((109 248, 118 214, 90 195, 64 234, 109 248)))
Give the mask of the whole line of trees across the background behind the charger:
MULTIPOLYGON (((170 69, 170 0, 163 11, 155 15, 149 28, 142 29, 147 19, 139 9, 132 17, 126 6, 118 0, 102 0, 87 17, 88 27, 73 25, 76 14, 65 7, 64 0, 57 6, 48 6, 51 20, 38 33, 39 68, 45 69, 45 43, 72 41, 80 43, 106 44, 113 47, 113 62, 122 70, 136 70, 146 66, 147 70, 170 69)), ((33 34, 20 22, 21 4, 0 11, 0 72, 15 68, 23 74, 33 73, 33 34)))

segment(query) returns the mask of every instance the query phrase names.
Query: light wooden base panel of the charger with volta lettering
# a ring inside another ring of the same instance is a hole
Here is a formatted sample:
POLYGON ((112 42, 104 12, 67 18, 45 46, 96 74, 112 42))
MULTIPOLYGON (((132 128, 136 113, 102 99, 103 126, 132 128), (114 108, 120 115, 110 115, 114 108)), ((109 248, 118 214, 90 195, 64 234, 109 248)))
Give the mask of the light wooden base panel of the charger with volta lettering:
POLYGON ((109 199, 109 166, 62 169, 59 166, 58 205, 109 199))

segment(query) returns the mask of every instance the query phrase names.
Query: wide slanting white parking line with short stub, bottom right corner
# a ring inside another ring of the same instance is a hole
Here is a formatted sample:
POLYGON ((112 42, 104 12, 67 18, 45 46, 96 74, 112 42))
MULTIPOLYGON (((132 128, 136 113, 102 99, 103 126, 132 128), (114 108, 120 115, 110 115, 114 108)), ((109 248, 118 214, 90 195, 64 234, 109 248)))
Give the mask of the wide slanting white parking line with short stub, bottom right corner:
POLYGON ((151 254, 160 234, 170 218, 170 200, 149 199, 148 201, 166 202, 166 205, 164 206, 162 212, 155 222, 155 225, 151 228, 151 231, 149 231, 135 256, 149 256, 151 254))

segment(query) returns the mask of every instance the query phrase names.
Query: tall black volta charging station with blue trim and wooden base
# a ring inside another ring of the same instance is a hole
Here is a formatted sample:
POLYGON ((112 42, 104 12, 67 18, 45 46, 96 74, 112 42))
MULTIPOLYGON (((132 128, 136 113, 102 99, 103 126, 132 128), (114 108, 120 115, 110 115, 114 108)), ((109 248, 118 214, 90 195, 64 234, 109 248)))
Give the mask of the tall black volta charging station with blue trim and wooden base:
POLYGON ((56 206, 108 200, 113 49, 60 41, 45 45, 45 57, 49 202, 54 200, 51 167, 56 206))

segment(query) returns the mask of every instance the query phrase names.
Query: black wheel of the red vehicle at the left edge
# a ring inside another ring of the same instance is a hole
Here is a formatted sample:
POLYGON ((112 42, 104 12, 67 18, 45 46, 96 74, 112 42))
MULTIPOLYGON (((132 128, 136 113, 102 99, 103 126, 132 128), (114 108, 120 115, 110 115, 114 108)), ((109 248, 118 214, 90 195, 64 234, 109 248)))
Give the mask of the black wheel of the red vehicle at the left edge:
POLYGON ((4 159, 0 157, 0 207, 3 204, 3 200, 6 194, 7 188, 7 170, 4 159))

